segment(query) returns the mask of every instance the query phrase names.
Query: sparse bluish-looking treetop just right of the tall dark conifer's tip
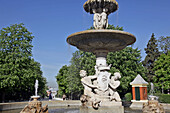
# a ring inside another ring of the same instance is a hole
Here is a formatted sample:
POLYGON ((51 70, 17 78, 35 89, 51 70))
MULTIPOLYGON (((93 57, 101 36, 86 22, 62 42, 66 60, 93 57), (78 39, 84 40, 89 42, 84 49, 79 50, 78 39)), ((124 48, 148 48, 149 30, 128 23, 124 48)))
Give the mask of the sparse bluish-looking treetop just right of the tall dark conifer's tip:
POLYGON ((164 54, 168 54, 168 51, 170 51, 170 37, 159 37, 158 45, 164 54))

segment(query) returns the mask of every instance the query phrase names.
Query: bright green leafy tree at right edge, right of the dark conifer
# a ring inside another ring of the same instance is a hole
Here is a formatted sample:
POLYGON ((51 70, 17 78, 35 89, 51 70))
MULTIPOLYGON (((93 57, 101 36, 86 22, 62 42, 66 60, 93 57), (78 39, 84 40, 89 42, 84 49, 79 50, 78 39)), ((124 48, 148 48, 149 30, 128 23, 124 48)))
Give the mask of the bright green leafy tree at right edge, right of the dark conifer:
POLYGON ((157 61, 155 61, 155 76, 153 77, 154 84, 158 88, 158 91, 168 91, 170 87, 170 52, 168 54, 162 54, 157 61))

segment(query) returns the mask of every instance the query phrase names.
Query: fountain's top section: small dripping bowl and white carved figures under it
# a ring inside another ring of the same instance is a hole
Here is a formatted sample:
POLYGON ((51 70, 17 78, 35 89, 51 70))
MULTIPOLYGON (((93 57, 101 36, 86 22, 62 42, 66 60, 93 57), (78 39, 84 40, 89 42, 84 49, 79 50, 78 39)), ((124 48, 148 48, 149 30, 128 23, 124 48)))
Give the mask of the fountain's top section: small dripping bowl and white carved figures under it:
POLYGON ((118 9, 116 0, 88 0, 84 9, 94 14, 93 25, 95 29, 106 29, 108 27, 108 15, 118 9))

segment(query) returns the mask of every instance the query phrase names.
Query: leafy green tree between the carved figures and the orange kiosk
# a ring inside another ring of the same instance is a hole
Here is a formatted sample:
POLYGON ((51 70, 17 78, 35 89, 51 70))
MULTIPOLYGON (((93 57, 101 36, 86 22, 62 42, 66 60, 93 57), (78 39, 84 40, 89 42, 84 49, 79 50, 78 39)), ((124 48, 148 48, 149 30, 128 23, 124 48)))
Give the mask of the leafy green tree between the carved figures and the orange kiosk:
POLYGON ((145 69, 141 63, 140 50, 138 48, 126 47, 125 49, 117 52, 110 52, 107 56, 107 63, 112 64, 110 72, 120 72, 122 78, 120 79, 121 85, 118 87, 120 95, 131 92, 130 82, 140 74, 145 78, 145 69))

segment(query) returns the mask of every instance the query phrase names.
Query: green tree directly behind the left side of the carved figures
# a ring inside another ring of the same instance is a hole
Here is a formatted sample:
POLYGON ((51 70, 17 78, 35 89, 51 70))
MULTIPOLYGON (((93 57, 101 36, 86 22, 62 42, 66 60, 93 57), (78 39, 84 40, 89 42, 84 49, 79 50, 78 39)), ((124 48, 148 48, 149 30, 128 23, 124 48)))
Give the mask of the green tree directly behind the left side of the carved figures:
POLYGON ((66 94, 71 99, 79 99, 83 92, 79 72, 86 70, 89 75, 93 75, 95 56, 89 52, 76 51, 70 63, 70 66, 63 66, 56 76, 59 95, 66 94))

